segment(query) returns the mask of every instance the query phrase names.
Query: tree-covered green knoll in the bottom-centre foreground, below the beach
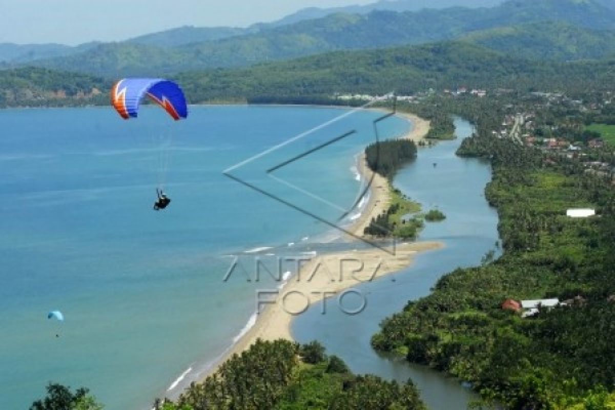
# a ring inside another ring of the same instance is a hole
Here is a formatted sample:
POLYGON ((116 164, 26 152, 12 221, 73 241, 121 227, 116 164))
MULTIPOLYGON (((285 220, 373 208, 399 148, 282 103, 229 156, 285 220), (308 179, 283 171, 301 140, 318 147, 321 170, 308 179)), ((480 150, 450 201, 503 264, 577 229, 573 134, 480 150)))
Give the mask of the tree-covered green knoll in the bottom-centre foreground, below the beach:
POLYGON ((257 341, 207 377, 192 384, 177 403, 156 409, 373 409, 423 410, 416 388, 376 376, 355 376, 318 342, 257 341))

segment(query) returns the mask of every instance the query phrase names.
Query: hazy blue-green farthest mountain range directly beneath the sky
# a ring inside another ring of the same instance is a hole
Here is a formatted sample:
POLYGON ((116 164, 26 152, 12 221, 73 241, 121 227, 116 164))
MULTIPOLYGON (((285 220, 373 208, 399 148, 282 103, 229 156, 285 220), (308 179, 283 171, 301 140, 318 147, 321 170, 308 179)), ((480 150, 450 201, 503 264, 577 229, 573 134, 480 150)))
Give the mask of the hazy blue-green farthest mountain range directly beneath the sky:
POLYGON ((595 29, 615 29, 615 10, 601 6, 597 0, 512 0, 490 9, 453 7, 401 13, 376 10, 367 15, 334 14, 260 33, 178 47, 103 44, 83 53, 39 60, 33 64, 108 77, 168 75, 194 69, 248 66, 332 50, 442 41, 478 30, 547 20, 595 29))

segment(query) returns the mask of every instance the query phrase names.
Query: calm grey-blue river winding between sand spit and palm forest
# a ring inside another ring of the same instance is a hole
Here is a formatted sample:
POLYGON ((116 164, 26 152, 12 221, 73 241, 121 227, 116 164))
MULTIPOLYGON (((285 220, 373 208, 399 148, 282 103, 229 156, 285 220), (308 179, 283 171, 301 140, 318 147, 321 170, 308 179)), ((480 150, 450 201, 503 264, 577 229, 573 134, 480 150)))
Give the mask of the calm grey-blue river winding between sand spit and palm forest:
POLYGON ((343 358, 355 373, 377 374, 399 382, 412 379, 434 410, 466 409, 474 395, 458 380, 379 355, 371 348, 370 339, 381 320, 402 310, 409 300, 429 294, 442 275, 457 267, 480 264, 499 240, 498 215, 484 196, 491 179, 490 165, 455 156, 462 139, 472 133, 464 120, 456 120, 455 125, 457 140, 420 149, 418 159, 403 168, 394 181, 402 192, 422 203, 424 210, 437 208, 445 213, 445 221, 427 223, 419 238, 440 240, 445 248, 420 254, 413 266, 397 274, 358 286, 367 301, 358 315, 345 314, 335 303, 325 315, 320 306, 314 306, 293 322, 292 329, 297 341, 322 342, 328 353, 343 358))

